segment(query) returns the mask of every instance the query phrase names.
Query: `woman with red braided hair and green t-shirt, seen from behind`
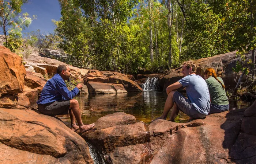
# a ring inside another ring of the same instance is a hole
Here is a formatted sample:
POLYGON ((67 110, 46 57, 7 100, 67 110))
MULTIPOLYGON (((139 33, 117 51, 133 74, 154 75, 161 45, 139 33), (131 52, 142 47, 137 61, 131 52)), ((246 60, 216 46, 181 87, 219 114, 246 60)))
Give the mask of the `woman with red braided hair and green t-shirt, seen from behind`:
POLYGON ((210 92, 210 113, 220 113, 229 110, 229 100, 227 99, 223 80, 216 76, 215 70, 207 68, 204 71, 204 79, 210 92))

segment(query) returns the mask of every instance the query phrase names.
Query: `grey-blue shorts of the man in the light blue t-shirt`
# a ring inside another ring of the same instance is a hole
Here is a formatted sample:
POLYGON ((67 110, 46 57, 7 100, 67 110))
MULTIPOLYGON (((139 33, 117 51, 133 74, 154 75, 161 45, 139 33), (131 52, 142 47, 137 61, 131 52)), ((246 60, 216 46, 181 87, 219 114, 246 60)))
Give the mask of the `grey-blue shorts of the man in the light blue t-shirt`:
POLYGON ((183 113, 187 114, 192 118, 204 118, 206 114, 197 112, 196 108, 192 105, 188 98, 176 91, 173 94, 173 102, 176 103, 178 110, 181 110, 183 113))

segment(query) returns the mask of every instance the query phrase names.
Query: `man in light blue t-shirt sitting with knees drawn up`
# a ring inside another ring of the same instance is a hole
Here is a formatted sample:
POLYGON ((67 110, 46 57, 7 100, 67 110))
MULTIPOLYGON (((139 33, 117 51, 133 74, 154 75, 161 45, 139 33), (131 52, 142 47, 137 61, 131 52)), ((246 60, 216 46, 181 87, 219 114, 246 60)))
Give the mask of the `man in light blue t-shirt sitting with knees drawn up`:
POLYGON ((210 94, 204 79, 196 75, 195 63, 193 61, 185 62, 181 73, 184 78, 167 87, 166 93, 168 97, 163 114, 155 120, 166 120, 167 114, 172 107, 173 110, 169 121, 173 122, 180 110, 187 114, 190 119, 204 118, 209 113, 210 94), (182 86, 186 87, 188 98, 175 90, 182 86))

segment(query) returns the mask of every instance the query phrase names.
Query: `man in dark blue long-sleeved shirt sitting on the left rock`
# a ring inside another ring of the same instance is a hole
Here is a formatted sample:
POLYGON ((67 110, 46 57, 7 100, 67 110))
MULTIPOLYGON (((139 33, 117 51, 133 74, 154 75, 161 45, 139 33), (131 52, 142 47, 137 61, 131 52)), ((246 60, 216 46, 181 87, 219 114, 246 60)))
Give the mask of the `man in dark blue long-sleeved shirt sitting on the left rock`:
POLYGON ((57 74, 46 82, 37 101, 38 110, 49 116, 69 114, 71 129, 74 131, 79 129, 80 133, 83 133, 93 128, 94 124, 84 125, 82 122, 78 101, 72 99, 79 93, 82 85, 79 83, 72 91, 69 91, 64 81, 68 80, 70 75, 68 66, 60 65, 57 68, 57 74))

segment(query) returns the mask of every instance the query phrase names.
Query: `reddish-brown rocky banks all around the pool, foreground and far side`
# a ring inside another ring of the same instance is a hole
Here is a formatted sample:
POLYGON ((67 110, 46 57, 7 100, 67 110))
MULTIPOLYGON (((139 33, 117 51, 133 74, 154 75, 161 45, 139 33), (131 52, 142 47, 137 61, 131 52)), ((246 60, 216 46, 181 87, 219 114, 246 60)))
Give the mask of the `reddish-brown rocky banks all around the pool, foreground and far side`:
MULTIPOLYGON (((225 56, 232 54, 224 55, 222 61, 225 56)), ((35 102, 46 83, 44 78, 56 73, 57 66, 64 63, 31 55, 26 59, 30 65, 25 68, 18 55, 2 46, 0 62, 1 163, 93 163, 87 142, 98 149, 106 163, 253 163, 256 160, 256 101, 246 110, 211 114, 187 123, 157 120, 146 125, 130 114, 114 113, 99 118, 93 129, 79 136, 59 118, 36 110, 35 102)), ((197 61, 198 65, 202 63, 197 61)), ((142 91, 136 82, 138 76, 70 67, 74 78, 88 88, 84 93, 142 91)), ((231 74, 230 67, 225 65, 223 75, 231 74)), ((163 88, 180 78, 179 69, 160 75, 161 81, 168 79, 163 88)), ((202 73, 200 66, 198 73, 202 73)))

